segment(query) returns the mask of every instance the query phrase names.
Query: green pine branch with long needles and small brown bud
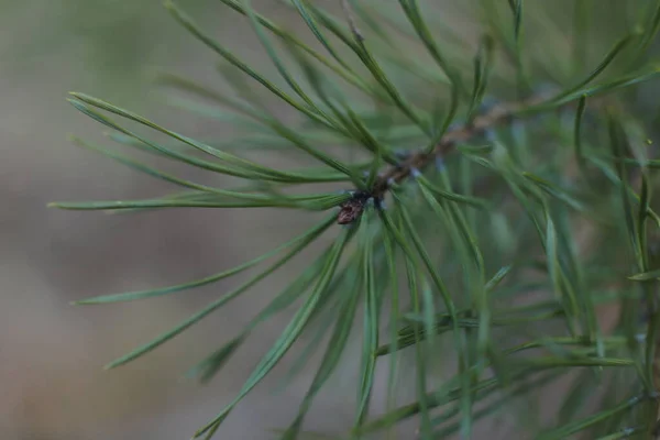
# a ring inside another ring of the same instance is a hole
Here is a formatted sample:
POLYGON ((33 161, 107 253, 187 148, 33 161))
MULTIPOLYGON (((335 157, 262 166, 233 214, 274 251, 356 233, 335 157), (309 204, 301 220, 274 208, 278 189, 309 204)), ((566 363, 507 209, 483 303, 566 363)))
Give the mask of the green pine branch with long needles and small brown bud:
POLYGON ((272 261, 108 367, 183 333, 331 235, 324 251, 238 336, 190 370, 209 381, 255 328, 297 305, 235 399, 195 438, 212 437, 309 332, 311 344, 293 374, 327 332, 330 337, 298 415, 279 431, 284 439, 305 431, 305 416, 353 334, 362 340, 355 417, 337 438, 382 438, 383 430, 411 417, 419 438, 470 438, 477 424, 495 424, 503 414, 518 415, 505 438, 654 436, 660 217, 652 193, 660 160, 651 141, 657 106, 645 92, 660 76, 654 61, 660 2, 615 1, 604 8, 573 0, 570 9, 559 0, 480 0, 449 11, 417 0, 345 0, 343 15, 336 16, 322 2, 284 1, 309 31, 304 37, 248 0, 221 1, 246 19, 273 72, 250 66, 167 1, 174 19, 222 59, 219 72, 237 96, 173 74, 157 80, 190 96, 168 96, 168 103, 230 122, 241 132, 235 139, 195 140, 86 94, 73 92, 69 101, 111 129, 110 139, 123 146, 245 185, 196 183, 116 147, 74 139, 182 191, 53 206, 330 213, 273 251, 202 279, 77 301, 176 294, 272 261), (470 23, 474 38, 461 35, 464 30, 452 25, 449 13, 470 23), (604 31, 622 23, 618 40, 604 31), (279 118, 253 85, 294 118, 279 118), (142 129, 168 141, 156 142, 142 129), (254 150, 310 163, 275 168, 249 158, 254 150), (292 190, 311 184, 337 188, 292 190), (614 323, 604 319, 606 308, 616 311, 614 323), (404 356, 413 358, 405 372, 415 377, 413 403, 400 402, 395 389, 404 356), (389 370, 386 403, 372 396, 381 364, 389 370), (565 391, 540 409, 549 387, 559 385, 565 391))

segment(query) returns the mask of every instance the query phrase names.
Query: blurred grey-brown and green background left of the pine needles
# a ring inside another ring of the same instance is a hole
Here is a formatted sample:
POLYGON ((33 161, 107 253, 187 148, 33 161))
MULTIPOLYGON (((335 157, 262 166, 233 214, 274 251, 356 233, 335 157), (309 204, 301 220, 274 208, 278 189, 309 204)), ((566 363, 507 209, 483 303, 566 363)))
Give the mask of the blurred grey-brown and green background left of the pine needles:
MULTIPOLYGON (((273 0, 253 3, 283 22, 296 21, 273 0)), ((265 63, 251 29, 219 1, 179 6, 248 59, 265 63)), ((235 336, 264 302, 260 294, 283 285, 286 274, 110 372, 102 371, 108 361, 242 278, 128 305, 69 301, 197 279, 257 256, 299 229, 277 212, 265 230, 253 211, 108 216, 47 209, 53 200, 140 198, 172 189, 68 142, 69 133, 102 140, 103 131, 66 102, 69 90, 193 136, 221 135, 212 121, 163 109, 147 80, 156 67, 213 85, 217 57, 170 19, 161 0, 1 0, 0 8, 0 439, 188 439, 235 396, 286 316, 263 326, 210 385, 183 373, 235 336)), ((268 429, 286 427, 296 414, 310 374, 278 393, 277 383, 266 381, 232 413, 220 438, 272 438, 268 429)), ((343 408, 346 394, 354 396, 349 383, 348 374, 333 380, 333 391, 319 396, 309 416, 310 427, 331 431, 351 421, 351 408, 343 408)))

